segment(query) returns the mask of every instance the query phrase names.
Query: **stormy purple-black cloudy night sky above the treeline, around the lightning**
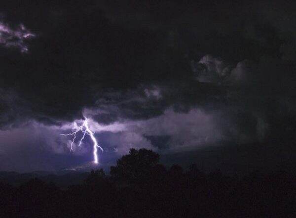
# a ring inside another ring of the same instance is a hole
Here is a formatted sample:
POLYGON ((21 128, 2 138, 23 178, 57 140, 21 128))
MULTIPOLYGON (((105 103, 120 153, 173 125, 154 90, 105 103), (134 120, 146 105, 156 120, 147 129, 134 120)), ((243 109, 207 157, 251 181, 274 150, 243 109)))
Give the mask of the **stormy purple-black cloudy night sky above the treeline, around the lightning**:
POLYGON ((232 164, 244 152, 245 166, 264 166, 258 149, 275 165, 293 160, 296 3, 186 2, 1 5, 0 170, 87 165, 91 140, 70 154, 60 135, 83 117, 102 166, 132 147, 192 162, 225 146, 237 148, 222 152, 232 164))

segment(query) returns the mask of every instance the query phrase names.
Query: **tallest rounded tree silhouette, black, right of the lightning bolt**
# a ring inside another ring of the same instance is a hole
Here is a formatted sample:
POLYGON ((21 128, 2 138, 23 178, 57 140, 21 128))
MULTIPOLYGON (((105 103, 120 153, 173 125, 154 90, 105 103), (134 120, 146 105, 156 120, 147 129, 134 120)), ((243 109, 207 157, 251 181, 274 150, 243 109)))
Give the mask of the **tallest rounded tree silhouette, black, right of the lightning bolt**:
POLYGON ((152 150, 132 148, 129 154, 117 160, 115 167, 111 167, 110 174, 131 182, 144 181, 158 161, 159 155, 152 150))

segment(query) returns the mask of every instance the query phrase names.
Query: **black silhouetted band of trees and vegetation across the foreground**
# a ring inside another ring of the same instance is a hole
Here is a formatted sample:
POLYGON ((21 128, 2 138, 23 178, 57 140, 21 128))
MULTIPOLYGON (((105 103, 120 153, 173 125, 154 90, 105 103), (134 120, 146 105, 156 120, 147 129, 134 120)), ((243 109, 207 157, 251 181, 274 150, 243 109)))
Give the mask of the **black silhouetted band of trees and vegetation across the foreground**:
POLYGON ((63 190, 40 179, 0 185, 0 218, 295 218, 296 177, 285 172, 243 178, 219 171, 166 170, 158 154, 130 150, 111 167, 63 190))

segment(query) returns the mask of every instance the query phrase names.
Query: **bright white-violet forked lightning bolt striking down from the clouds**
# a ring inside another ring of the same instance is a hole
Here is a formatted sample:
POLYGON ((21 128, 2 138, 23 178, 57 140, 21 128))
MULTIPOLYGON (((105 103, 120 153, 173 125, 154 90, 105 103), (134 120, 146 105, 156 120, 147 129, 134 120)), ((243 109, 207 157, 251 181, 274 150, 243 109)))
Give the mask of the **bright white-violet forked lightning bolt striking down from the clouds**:
POLYGON ((82 123, 81 126, 77 126, 76 123, 74 123, 74 130, 72 130, 71 133, 68 134, 61 134, 61 135, 72 135, 73 139, 71 142, 71 149, 70 149, 70 153, 71 151, 74 152, 73 150, 73 146, 74 146, 74 142, 76 139, 76 134, 81 131, 83 133, 82 137, 79 140, 78 146, 81 146, 82 144, 82 140, 84 139, 85 135, 88 134, 91 138, 91 140, 93 141, 93 155, 94 155, 94 163, 98 164, 99 160, 98 160, 98 148, 101 149, 101 151, 104 151, 103 148, 101 148, 101 146, 98 145, 97 139, 95 138, 94 134, 95 132, 92 132, 89 127, 88 127, 88 120, 87 118, 85 118, 84 122, 82 123))

